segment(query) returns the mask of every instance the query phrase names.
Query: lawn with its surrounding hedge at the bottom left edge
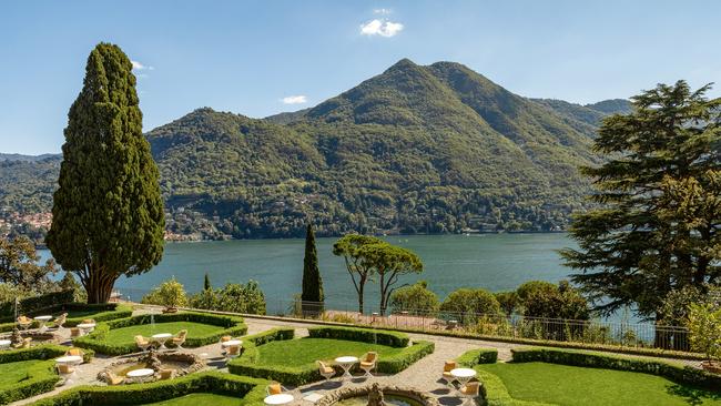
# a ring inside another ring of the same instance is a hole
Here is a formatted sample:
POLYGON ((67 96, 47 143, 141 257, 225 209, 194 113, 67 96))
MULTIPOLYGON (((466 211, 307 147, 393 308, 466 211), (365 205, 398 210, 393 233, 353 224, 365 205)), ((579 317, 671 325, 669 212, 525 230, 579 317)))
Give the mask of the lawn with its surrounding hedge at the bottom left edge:
MULTIPOLYGON (((60 380, 53 358, 64 355, 67 349, 59 345, 42 345, 0 352, 0 404, 52 390, 60 380)), ((90 358, 92 352, 85 354, 85 361, 90 358)))

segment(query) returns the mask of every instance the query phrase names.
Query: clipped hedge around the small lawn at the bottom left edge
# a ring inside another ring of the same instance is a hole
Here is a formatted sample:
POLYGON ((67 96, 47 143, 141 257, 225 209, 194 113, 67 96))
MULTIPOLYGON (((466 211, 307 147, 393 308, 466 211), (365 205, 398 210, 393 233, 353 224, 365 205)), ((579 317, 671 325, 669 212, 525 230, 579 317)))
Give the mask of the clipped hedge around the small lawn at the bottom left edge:
MULTIPOLYGON (((0 405, 26 399, 31 396, 50 392, 55 387, 60 376, 55 373, 55 361, 68 347, 61 345, 39 345, 30 348, 0 352, 0 364, 17 363, 30 359, 47 359, 28 368, 28 377, 21 382, 0 387, 0 405)), ((90 362, 93 353, 85 353, 84 361, 90 362)))

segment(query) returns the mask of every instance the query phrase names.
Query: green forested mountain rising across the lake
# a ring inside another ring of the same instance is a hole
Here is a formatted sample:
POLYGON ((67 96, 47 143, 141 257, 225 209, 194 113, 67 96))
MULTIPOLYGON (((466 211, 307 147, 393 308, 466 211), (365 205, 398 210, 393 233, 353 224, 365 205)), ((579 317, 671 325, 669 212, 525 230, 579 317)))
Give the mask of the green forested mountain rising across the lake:
POLYGON ((308 220, 319 235, 551 231, 583 207, 578 165, 626 105, 526 99, 458 63, 402 60, 312 109, 204 108, 146 136, 180 234, 301 236, 308 220))

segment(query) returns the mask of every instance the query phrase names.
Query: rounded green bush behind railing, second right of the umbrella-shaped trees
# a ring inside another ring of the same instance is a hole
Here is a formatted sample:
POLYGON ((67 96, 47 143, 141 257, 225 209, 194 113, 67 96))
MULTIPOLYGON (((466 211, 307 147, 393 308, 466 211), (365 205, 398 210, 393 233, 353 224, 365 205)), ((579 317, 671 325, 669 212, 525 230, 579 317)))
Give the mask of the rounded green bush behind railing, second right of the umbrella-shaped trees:
POLYGON ((475 323, 478 316, 498 316, 501 314, 500 304, 492 293, 483 290, 461 287, 451 292, 440 304, 441 312, 451 313, 464 324, 475 323))

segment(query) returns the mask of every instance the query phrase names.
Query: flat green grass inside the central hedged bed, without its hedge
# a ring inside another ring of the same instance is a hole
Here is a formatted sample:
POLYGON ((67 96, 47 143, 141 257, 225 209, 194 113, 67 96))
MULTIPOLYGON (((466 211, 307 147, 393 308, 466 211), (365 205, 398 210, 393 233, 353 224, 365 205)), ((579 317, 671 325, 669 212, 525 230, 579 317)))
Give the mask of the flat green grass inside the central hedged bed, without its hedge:
POLYGON ((378 357, 396 355, 405 348, 395 348, 386 345, 352 342, 331 338, 299 338, 290 341, 271 342, 257 347, 260 364, 302 366, 316 361, 333 359, 344 355, 360 357, 369 351, 378 353, 378 357))

